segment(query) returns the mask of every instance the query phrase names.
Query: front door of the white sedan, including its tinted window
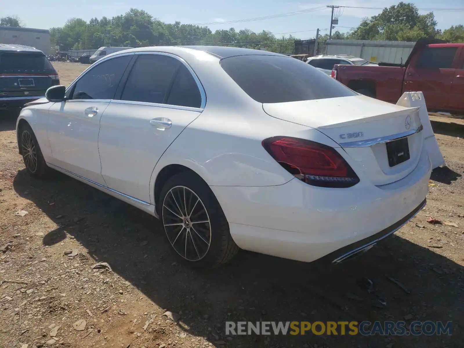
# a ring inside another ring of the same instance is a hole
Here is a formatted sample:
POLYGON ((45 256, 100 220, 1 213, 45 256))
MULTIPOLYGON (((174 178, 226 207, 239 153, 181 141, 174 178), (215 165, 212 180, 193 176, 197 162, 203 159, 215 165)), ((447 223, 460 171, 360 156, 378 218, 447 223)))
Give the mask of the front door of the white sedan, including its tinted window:
POLYGON ((116 57, 95 65, 67 91, 66 101, 49 109, 52 164, 105 185, 98 154, 100 119, 131 58, 116 57))

